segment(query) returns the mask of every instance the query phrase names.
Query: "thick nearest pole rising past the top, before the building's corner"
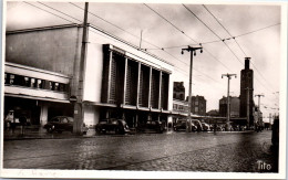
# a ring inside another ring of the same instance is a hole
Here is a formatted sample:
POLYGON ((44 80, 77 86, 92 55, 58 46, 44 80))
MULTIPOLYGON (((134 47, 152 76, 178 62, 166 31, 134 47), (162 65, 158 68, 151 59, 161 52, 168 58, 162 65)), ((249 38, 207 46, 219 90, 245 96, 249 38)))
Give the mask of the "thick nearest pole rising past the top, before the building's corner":
POLYGON ((86 61, 86 42, 88 42, 88 8, 89 2, 85 2, 84 10, 84 22, 83 22, 83 34, 80 56, 80 70, 79 70, 79 82, 78 82, 78 97, 74 104, 74 123, 73 133, 82 134, 83 118, 84 118, 84 104, 83 104, 83 82, 84 82, 84 64, 86 61))

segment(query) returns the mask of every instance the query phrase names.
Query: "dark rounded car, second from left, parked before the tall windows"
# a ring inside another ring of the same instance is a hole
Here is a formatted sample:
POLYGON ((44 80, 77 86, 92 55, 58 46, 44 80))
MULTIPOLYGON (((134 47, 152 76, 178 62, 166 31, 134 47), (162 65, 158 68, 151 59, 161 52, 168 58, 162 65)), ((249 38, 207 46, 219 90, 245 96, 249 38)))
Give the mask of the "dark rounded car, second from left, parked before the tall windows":
POLYGON ((96 125, 96 133, 97 134, 106 134, 106 133, 113 133, 113 134, 127 134, 130 133, 128 125, 124 119, 103 119, 96 125))

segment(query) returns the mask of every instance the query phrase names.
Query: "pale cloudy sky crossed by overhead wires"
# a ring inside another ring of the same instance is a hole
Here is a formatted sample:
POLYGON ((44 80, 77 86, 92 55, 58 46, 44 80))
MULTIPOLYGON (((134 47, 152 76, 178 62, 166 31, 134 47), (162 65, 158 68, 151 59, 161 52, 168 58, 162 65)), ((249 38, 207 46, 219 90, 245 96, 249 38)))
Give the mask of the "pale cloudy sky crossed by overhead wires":
MULTIPOLYGON (((83 2, 10 1, 6 30, 82 23, 83 8, 83 2)), ((230 80, 229 92, 239 96, 240 71, 245 57, 250 57, 254 94, 264 95, 264 117, 278 113, 282 78, 279 4, 90 2, 89 12, 89 23, 172 63, 173 78, 184 82, 186 96, 191 54, 181 52, 202 43, 204 52, 193 56, 192 94, 206 98, 207 112, 218 109, 219 99, 227 96, 228 80, 223 74, 237 75, 230 80)), ((258 98, 254 100, 258 105, 258 98)))

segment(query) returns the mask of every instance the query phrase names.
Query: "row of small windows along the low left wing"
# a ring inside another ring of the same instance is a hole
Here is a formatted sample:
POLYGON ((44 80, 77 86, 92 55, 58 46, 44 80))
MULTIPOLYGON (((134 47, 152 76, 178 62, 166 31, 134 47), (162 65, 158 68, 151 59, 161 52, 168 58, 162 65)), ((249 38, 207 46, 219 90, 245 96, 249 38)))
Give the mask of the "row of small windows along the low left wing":
POLYGON ((18 85, 24 87, 33 87, 33 88, 43 88, 50 91, 58 91, 58 92, 66 92, 68 84, 52 82, 47 80, 40 80, 34 77, 28 77, 22 75, 16 75, 6 73, 4 74, 4 84, 6 85, 18 85))

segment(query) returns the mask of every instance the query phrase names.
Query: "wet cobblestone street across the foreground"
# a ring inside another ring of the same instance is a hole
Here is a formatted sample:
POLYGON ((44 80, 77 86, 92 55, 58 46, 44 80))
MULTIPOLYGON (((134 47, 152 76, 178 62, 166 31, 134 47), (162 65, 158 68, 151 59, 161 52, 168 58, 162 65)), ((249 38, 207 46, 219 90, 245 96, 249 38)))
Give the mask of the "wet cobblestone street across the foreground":
POLYGON ((272 172, 271 131, 6 140, 3 168, 272 172), (267 166, 260 166, 265 162, 267 166))

